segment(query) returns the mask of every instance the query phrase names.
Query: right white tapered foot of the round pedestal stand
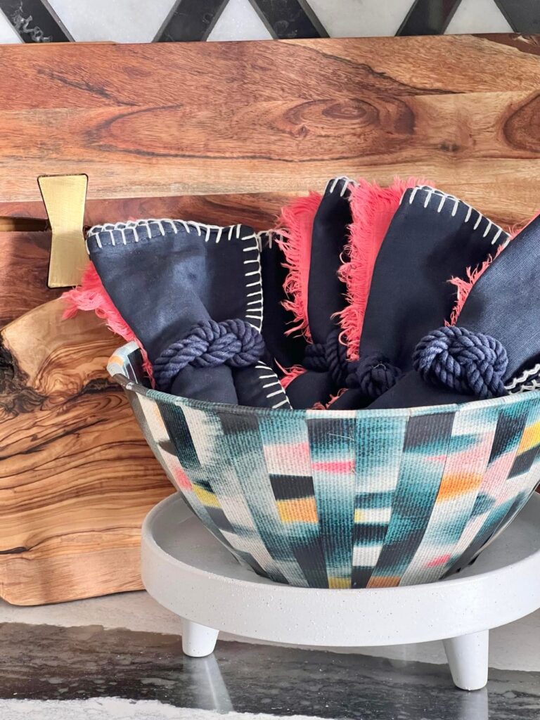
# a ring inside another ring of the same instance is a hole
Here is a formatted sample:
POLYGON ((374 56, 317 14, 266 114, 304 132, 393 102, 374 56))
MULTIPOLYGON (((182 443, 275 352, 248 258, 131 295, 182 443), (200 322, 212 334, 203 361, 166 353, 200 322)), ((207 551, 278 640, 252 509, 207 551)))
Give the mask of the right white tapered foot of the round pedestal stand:
POLYGON ((462 690, 480 690, 487 683, 488 630, 443 640, 452 680, 462 690))

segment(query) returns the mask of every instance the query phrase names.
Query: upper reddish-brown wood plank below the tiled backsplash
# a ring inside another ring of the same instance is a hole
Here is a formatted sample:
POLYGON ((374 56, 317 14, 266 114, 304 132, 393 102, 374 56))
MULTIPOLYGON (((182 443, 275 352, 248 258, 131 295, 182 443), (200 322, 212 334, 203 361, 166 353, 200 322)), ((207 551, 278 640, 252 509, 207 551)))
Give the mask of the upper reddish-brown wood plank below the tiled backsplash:
POLYGON ((488 215, 540 197, 536 38, 4 46, 0 199, 303 192, 423 174, 488 215))

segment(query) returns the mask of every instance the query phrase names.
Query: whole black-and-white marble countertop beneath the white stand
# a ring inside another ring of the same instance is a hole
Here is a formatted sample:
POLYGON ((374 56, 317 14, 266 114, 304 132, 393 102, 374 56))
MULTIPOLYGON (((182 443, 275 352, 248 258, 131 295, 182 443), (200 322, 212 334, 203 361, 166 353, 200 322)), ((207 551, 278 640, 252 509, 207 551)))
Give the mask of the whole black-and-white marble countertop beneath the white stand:
POLYGON ((147 593, 30 608, 0 603, 0 715, 540 717, 540 611, 492 631, 490 680, 477 693, 454 688, 438 642, 323 652, 223 636, 214 655, 193 659, 181 653, 179 630, 179 618, 147 593))

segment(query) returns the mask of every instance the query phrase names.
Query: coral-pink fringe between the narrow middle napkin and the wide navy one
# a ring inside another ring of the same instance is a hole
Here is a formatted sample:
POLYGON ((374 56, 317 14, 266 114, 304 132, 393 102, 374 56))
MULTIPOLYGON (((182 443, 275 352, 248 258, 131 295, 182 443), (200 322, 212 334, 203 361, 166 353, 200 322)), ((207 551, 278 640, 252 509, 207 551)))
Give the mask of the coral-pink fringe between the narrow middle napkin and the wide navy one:
POLYGON ((360 179, 351 186, 353 222, 350 239, 343 253, 349 261, 343 263, 339 278, 347 287, 347 306, 338 314, 348 359, 359 358, 359 345, 366 314, 373 269, 382 240, 406 189, 425 185, 423 179, 395 178, 389 187, 380 187, 360 179))

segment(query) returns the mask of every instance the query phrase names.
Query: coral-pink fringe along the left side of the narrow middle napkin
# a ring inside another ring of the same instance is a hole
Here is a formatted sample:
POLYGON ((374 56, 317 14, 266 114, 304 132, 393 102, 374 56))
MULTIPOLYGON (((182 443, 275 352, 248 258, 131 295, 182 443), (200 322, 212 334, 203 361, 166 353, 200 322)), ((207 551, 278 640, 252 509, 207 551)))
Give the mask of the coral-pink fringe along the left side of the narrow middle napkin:
POLYGON ((308 341, 311 341, 307 320, 311 234, 321 199, 322 196, 318 192, 310 192, 307 197, 294 199, 282 208, 274 230, 279 236, 276 242, 282 249, 285 257, 284 265, 289 271, 283 287, 290 300, 284 300, 283 307, 294 315, 294 327, 287 330, 287 335, 300 332, 308 341))

